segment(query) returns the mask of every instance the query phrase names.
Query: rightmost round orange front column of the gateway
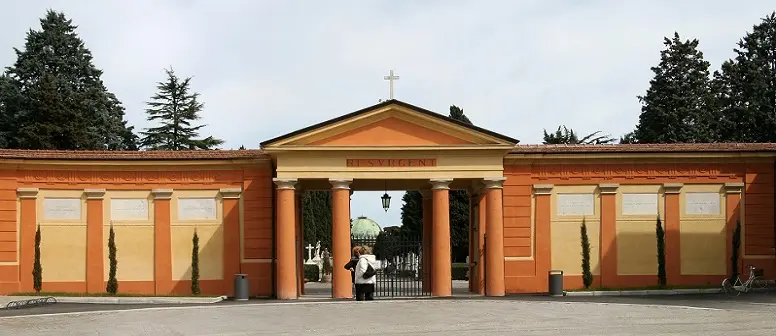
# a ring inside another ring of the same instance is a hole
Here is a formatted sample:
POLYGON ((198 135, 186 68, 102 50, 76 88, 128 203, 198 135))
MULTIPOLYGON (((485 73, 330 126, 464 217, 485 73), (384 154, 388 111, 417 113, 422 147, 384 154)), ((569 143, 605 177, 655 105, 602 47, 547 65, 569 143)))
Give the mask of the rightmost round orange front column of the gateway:
POLYGON ((488 234, 485 236, 485 268, 488 278, 485 279, 486 296, 504 296, 504 201, 503 188, 505 177, 485 179, 487 198, 488 234))

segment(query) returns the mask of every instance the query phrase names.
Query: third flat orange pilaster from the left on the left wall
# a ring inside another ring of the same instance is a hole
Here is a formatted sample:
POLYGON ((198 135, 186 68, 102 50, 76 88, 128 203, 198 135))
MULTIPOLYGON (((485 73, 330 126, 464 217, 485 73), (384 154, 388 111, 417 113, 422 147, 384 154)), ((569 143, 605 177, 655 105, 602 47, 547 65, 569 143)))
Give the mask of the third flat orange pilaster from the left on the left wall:
POLYGON ((172 292, 172 244, 170 199, 172 189, 154 189, 154 289, 156 294, 172 292))

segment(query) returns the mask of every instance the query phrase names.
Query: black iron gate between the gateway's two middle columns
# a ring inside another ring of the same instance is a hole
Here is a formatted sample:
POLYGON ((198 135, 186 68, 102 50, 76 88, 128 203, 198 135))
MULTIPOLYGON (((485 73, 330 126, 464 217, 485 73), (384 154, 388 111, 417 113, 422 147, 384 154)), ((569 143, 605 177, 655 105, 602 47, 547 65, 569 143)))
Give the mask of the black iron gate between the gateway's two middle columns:
POLYGON ((377 237, 351 237, 351 246, 368 246, 377 258, 376 298, 431 295, 430 291, 423 288, 420 237, 382 232, 377 237))

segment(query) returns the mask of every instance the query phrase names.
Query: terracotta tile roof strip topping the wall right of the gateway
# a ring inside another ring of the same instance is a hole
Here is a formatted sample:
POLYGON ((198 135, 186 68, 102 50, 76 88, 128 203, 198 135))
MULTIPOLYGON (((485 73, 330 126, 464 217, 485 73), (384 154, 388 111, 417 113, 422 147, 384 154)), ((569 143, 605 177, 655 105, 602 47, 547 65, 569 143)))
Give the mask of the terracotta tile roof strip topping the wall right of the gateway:
POLYGON ((776 143, 517 145, 510 154, 776 152, 776 143))

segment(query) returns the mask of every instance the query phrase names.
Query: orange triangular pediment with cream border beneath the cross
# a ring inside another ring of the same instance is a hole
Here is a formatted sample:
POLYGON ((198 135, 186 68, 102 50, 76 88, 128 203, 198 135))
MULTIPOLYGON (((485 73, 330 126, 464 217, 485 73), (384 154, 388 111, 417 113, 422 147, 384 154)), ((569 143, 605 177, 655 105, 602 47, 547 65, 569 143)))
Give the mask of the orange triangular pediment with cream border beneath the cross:
POLYGON ((283 147, 514 146, 512 138, 391 100, 262 143, 283 147))

